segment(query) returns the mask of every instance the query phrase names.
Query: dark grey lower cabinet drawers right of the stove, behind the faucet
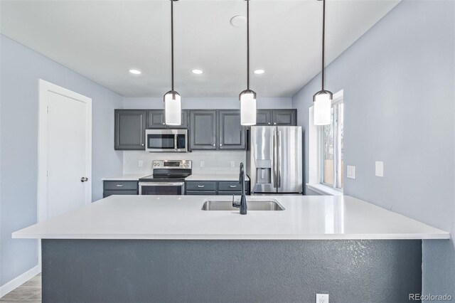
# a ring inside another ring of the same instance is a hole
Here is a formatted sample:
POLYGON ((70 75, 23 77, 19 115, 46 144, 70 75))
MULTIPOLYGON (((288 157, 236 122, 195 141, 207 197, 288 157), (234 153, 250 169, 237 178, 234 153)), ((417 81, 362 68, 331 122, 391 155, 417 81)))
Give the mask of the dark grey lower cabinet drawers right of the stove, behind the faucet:
MULTIPOLYGON (((238 181, 186 181, 187 195, 240 195, 241 187, 238 181)), ((250 181, 246 181, 245 193, 250 194, 250 181)))

